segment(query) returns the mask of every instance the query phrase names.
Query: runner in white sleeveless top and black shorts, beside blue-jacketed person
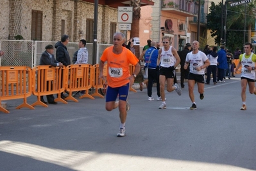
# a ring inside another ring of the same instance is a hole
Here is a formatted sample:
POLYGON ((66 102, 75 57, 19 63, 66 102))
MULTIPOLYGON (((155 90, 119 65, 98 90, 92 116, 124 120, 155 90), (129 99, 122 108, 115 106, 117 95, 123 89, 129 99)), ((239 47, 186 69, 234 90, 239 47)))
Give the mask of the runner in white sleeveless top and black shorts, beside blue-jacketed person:
POLYGON ((158 51, 157 68, 160 63, 160 95, 162 98, 162 104, 159 109, 166 109, 166 94, 164 93, 164 87, 166 86, 167 80, 167 92, 173 92, 176 90, 178 95, 182 95, 182 90, 177 83, 173 85, 175 78, 175 68, 180 63, 180 56, 174 47, 170 45, 170 38, 162 38, 163 47, 158 51))

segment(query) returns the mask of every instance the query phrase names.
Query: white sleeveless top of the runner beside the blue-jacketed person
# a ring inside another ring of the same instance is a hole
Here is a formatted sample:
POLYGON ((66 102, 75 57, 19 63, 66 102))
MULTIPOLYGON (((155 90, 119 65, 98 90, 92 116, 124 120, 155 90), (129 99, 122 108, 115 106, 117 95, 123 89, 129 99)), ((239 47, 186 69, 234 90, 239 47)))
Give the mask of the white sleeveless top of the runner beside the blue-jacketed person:
POLYGON ((176 63, 176 58, 173 56, 173 53, 171 53, 171 46, 167 51, 164 51, 164 47, 162 47, 162 53, 160 54, 160 66, 161 67, 172 67, 176 63))

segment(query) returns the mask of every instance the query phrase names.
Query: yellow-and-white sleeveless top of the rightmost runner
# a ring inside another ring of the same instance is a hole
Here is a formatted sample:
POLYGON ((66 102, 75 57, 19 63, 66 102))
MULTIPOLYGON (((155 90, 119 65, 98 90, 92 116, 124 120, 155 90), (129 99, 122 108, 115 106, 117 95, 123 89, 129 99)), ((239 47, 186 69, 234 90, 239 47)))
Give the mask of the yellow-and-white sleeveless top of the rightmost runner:
POLYGON ((249 66, 255 67, 255 62, 252 61, 253 53, 251 53, 249 58, 245 58, 244 54, 243 54, 242 61, 241 61, 241 63, 242 63, 241 77, 247 77, 249 79, 255 79, 255 71, 254 70, 249 71, 247 69, 247 67, 249 67, 249 66))

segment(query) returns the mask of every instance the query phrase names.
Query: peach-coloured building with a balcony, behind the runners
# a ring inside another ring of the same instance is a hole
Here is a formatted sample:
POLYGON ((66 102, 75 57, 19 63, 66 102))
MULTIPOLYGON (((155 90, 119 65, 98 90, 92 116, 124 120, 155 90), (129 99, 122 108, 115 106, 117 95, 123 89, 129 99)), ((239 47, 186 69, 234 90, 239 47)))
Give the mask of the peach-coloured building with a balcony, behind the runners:
MULTIPOLYGON (((217 0, 216 0, 217 1, 217 0)), ((141 45, 151 39, 162 42, 163 35, 172 38, 172 45, 182 50, 187 42, 197 39, 198 8, 201 7, 200 37, 207 38, 207 13, 210 1, 201 0, 162 0, 155 1, 154 6, 141 8, 140 39, 141 45)))

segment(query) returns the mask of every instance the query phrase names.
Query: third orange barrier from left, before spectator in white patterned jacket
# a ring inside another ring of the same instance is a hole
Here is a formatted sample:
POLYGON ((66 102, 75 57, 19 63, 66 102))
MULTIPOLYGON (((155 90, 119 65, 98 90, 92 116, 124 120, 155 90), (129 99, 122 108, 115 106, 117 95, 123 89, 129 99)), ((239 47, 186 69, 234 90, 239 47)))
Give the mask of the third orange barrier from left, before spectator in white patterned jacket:
POLYGON ((65 85, 65 90, 69 91, 69 96, 65 99, 78 102, 78 100, 72 96, 72 92, 81 90, 85 90, 85 94, 81 95, 81 97, 79 97, 80 99, 82 99, 83 97, 89 97, 90 99, 94 99, 94 97, 89 94, 89 89, 92 88, 92 80, 94 79, 93 73, 94 71, 92 69, 92 65, 89 64, 67 66, 66 80, 69 81, 67 81, 65 85))

